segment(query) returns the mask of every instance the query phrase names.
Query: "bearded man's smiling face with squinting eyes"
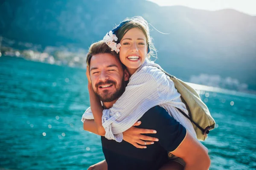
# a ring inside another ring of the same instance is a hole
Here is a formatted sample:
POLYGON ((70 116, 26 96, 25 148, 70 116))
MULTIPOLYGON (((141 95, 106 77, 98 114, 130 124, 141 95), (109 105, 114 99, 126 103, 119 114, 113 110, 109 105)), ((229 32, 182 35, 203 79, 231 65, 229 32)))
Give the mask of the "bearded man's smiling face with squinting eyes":
POLYGON ((125 81, 129 79, 120 61, 108 53, 93 55, 90 60, 90 77, 93 91, 102 102, 118 99, 125 91, 125 81))

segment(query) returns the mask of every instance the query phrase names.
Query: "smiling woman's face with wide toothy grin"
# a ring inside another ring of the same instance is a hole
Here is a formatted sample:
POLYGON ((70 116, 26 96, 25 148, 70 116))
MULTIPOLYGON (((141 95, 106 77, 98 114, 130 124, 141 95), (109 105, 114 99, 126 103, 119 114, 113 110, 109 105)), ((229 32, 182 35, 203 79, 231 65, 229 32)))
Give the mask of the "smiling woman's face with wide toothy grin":
POLYGON ((130 74, 139 68, 147 57, 146 36, 140 28, 131 28, 120 41, 120 60, 130 74))

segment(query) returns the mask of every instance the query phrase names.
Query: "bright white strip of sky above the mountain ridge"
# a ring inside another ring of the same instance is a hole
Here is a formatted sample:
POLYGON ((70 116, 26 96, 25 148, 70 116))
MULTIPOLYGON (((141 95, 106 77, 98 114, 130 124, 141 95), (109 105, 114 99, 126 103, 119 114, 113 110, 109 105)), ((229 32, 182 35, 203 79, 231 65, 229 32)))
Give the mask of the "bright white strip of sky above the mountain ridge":
POLYGON ((250 15, 256 15, 256 0, 148 0, 159 6, 187 6, 196 9, 215 11, 235 9, 250 15))

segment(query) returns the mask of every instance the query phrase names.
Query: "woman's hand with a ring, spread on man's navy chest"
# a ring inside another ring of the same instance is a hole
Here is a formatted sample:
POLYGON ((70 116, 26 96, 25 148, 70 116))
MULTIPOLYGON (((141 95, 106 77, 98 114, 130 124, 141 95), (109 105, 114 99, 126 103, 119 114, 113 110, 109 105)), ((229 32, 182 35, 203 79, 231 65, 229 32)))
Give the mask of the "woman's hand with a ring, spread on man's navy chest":
POLYGON ((154 141, 158 141, 157 138, 151 136, 142 135, 142 133, 157 133, 156 130, 142 129, 134 126, 139 126, 141 122, 136 122, 130 129, 123 132, 123 140, 129 142, 137 148, 147 148, 145 145, 154 144, 154 141))

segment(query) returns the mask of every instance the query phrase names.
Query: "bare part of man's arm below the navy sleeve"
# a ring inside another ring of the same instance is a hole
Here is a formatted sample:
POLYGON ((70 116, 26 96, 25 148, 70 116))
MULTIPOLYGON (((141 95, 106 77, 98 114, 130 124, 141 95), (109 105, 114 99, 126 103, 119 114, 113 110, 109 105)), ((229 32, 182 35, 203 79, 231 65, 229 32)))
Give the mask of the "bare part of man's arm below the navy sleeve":
POLYGON ((186 162, 184 170, 208 170, 210 167, 207 149, 188 131, 180 145, 171 153, 186 162))

